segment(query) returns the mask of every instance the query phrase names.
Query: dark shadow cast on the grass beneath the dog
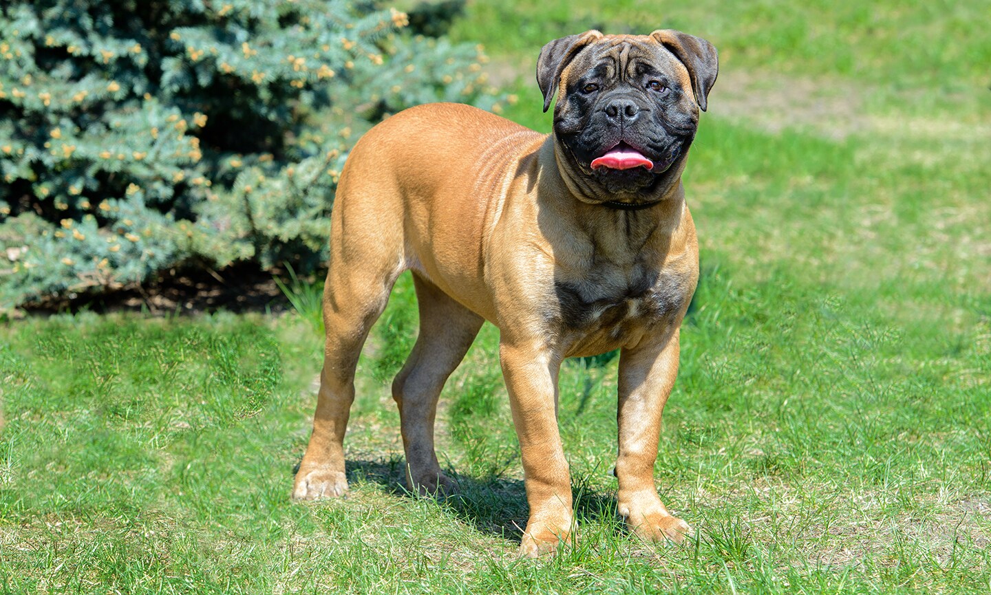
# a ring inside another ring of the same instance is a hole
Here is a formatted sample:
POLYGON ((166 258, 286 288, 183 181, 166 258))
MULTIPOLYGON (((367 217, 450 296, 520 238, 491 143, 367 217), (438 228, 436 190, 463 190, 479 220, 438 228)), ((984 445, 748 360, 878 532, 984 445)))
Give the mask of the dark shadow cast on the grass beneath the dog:
MULTIPOLYGON (((420 498, 406 489, 405 460, 349 459, 345 464, 348 482, 377 484, 397 498, 420 498)), ((458 485, 458 493, 439 497, 439 505, 478 531, 519 544, 526 527, 528 508, 521 479, 473 477, 446 469, 458 485)), ((572 478, 572 499, 579 525, 615 524, 622 527, 616 513, 613 492, 597 492, 582 478, 572 478)))

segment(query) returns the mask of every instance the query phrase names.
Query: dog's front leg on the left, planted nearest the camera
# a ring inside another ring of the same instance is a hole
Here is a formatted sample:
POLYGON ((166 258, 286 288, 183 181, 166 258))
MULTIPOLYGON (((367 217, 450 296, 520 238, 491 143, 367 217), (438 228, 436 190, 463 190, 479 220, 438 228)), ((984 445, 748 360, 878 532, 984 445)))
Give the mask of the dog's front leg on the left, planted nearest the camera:
POLYGON ((572 502, 568 462, 557 425, 557 379, 561 358, 546 347, 499 345, 502 376, 523 458, 530 518, 521 555, 553 553, 571 541, 572 502))

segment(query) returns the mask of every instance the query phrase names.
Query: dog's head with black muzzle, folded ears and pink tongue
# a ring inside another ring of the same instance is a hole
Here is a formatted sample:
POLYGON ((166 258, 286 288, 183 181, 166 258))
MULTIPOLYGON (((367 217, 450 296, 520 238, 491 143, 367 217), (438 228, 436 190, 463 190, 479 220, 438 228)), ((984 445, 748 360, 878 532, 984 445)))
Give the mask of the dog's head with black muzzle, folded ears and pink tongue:
POLYGON ((560 91, 555 150, 569 185, 590 202, 665 196, 685 167, 717 71, 712 44, 673 30, 589 31, 544 46, 537 83, 545 112, 560 91))

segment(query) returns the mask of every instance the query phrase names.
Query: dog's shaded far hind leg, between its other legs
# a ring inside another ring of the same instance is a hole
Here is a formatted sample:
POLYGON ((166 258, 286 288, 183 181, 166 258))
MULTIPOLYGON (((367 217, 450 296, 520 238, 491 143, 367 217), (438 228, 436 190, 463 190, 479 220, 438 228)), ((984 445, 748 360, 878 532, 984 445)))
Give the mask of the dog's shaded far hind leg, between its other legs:
POLYGON ((405 365, 392 381, 406 451, 406 483, 421 495, 450 493, 453 483, 441 472, 434 449, 437 398, 475 341, 484 319, 416 273, 413 282, 420 333, 405 365))

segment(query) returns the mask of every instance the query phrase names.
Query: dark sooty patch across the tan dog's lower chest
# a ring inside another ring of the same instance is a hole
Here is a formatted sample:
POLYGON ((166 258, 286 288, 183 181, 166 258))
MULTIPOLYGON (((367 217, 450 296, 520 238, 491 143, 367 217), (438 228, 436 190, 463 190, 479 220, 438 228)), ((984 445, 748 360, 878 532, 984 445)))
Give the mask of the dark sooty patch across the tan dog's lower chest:
POLYGON ((620 340, 632 326, 670 320, 694 289, 691 275, 675 267, 637 266, 626 272, 605 263, 591 267, 582 278, 555 280, 556 318, 565 331, 620 340))

